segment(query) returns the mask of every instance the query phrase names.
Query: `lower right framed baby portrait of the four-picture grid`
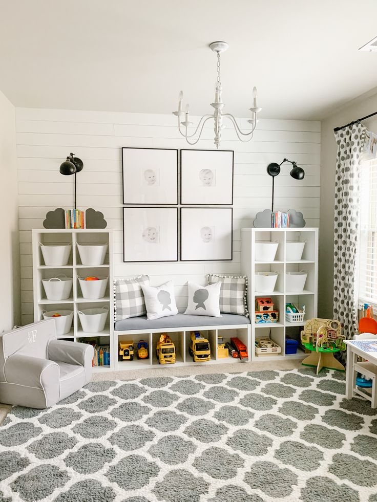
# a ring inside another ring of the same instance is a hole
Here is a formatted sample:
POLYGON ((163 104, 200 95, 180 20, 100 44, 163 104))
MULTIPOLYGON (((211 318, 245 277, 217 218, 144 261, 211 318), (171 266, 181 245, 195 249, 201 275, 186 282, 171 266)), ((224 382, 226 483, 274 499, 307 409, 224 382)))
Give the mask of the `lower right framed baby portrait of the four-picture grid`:
POLYGON ((232 208, 181 208, 181 261, 231 260, 232 251, 232 208))

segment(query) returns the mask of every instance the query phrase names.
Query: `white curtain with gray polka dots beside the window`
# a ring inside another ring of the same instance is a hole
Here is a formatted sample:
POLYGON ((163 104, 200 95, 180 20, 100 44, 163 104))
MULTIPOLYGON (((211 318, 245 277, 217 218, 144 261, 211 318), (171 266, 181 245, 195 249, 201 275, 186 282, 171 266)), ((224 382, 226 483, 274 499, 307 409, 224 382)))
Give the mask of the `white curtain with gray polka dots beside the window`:
POLYGON ((360 162, 365 126, 335 133, 337 168, 334 206, 334 319, 347 339, 358 333, 357 254, 360 210, 360 162))

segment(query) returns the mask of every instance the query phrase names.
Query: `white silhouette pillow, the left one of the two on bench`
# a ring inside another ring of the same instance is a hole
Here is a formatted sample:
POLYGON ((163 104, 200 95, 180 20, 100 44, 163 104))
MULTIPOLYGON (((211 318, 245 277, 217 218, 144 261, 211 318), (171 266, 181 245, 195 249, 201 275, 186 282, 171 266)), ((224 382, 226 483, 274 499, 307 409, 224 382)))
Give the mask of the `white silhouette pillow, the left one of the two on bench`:
POLYGON ((142 284, 141 289, 144 293, 146 317, 148 319, 159 319, 160 317, 178 314, 172 280, 168 280, 161 286, 157 286, 157 288, 142 284))

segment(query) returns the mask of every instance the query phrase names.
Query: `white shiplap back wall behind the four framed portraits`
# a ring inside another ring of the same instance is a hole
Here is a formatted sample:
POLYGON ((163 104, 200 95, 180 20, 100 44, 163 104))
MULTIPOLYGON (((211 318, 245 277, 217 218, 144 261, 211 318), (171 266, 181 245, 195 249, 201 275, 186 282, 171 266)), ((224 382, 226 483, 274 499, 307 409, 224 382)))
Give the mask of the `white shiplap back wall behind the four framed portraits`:
MULTIPOLYGON (((240 123, 249 127, 246 119, 240 123)), ((319 225, 320 122, 261 119, 249 143, 237 140, 230 125, 224 130, 222 148, 235 151, 234 244, 233 260, 218 263, 123 263, 120 148, 189 147, 179 137, 173 115, 17 108, 16 131, 23 324, 33 320, 31 229, 41 228, 47 211, 73 206, 73 178, 59 173, 70 151, 84 162, 77 175, 77 207, 102 211, 115 229, 115 276, 146 273, 152 276, 152 285, 172 278, 180 309, 187 304, 188 279, 204 284, 207 273, 239 273, 240 229, 252 226, 255 214, 271 204, 268 163, 287 157, 305 169, 304 180, 296 181, 289 176, 290 166, 282 167, 275 184, 275 207, 298 209, 307 226, 319 225)), ((193 148, 213 149, 213 137, 209 126, 193 148)))

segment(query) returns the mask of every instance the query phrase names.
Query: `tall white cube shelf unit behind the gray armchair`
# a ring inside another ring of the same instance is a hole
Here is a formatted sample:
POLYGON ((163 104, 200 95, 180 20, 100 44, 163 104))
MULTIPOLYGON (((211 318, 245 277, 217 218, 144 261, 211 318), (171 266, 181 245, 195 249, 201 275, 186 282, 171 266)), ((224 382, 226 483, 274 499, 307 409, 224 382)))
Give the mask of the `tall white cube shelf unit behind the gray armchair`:
MULTIPOLYGON (((113 232, 107 229, 33 229, 33 295, 34 321, 43 319, 43 311, 60 310, 73 311, 73 325, 67 334, 58 336, 64 340, 78 341, 81 338, 97 338, 98 344, 110 345, 110 365, 94 366, 94 371, 114 368, 114 300, 113 300, 113 232), (45 265, 39 243, 45 245, 71 244, 72 250, 65 266, 45 265), (108 244, 108 250, 103 265, 82 265, 77 244, 108 244), (73 279, 71 295, 67 300, 48 300, 42 285, 42 279, 64 274, 73 279), (78 277, 104 276, 109 277, 103 298, 83 298, 78 277), (109 315, 104 329, 98 333, 83 331, 78 311, 108 307, 109 315)), ((115 356, 116 357, 116 356, 115 356)))

